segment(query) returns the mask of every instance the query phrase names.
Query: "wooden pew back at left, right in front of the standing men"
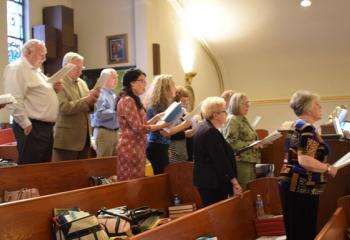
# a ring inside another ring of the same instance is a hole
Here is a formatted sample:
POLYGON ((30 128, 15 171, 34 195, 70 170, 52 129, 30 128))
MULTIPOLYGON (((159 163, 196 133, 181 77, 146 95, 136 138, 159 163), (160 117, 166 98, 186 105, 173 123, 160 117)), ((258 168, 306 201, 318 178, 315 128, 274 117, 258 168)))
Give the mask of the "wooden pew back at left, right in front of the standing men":
POLYGON ((85 188, 90 176, 109 177, 116 174, 116 169, 115 157, 0 168, 0 196, 5 190, 23 187, 37 188, 40 195, 85 188))

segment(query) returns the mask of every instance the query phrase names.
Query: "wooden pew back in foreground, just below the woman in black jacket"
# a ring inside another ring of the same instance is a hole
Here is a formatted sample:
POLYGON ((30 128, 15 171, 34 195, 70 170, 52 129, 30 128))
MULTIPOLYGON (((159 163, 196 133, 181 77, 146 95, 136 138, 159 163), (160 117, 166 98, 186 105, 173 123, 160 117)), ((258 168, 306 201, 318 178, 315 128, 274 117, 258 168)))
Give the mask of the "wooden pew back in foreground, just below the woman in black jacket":
POLYGON ((215 203, 131 239, 196 239, 212 234, 220 240, 250 240, 256 238, 254 219, 253 195, 247 191, 243 198, 235 197, 215 203))

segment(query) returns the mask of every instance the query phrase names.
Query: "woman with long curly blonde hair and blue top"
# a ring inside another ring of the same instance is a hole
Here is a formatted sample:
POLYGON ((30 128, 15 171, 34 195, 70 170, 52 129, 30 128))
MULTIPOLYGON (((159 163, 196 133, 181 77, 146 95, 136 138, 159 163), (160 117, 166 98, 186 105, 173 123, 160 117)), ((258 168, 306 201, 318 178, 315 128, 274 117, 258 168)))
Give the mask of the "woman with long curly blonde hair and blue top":
MULTIPOLYGON (((155 77, 145 98, 148 119, 165 111, 174 101, 175 94, 175 82, 171 75, 162 74, 155 77)), ((168 131, 161 130, 148 134, 146 154, 152 164, 154 174, 163 173, 165 166, 169 164, 170 136, 185 130, 190 124, 191 122, 184 121, 168 131)))

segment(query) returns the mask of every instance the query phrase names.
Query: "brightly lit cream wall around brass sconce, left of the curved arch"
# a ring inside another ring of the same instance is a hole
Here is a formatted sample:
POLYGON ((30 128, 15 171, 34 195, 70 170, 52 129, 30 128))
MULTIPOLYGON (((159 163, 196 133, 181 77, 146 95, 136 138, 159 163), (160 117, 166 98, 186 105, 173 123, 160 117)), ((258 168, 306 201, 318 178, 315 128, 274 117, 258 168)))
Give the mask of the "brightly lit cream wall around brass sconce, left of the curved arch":
MULTIPOLYGON (((152 63, 152 43, 159 43, 161 72, 173 75, 178 85, 184 85, 185 73, 180 62, 180 50, 184 42, 189 42, 194 51, 193 71, 198 73, 192 82, 197 103, 207 96, 218 95, 220 90, 217 75, 210 59, 198 41, 187 31, 168 1, 149 0, 148 9, 149 63, 152 63)), ((152 72, 152 68, 153 65, 149 64, 148 71, 152 72)))

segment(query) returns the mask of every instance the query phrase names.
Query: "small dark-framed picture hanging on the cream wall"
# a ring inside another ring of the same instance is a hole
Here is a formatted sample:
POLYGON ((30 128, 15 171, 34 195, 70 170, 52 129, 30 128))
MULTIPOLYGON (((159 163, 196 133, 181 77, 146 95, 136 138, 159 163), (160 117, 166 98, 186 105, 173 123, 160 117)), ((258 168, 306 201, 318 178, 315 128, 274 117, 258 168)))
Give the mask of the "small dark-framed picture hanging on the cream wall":
POLYGON ((127 63, 128 61, 128 35, 124 33, 107 36, 108 64, 127 63))

